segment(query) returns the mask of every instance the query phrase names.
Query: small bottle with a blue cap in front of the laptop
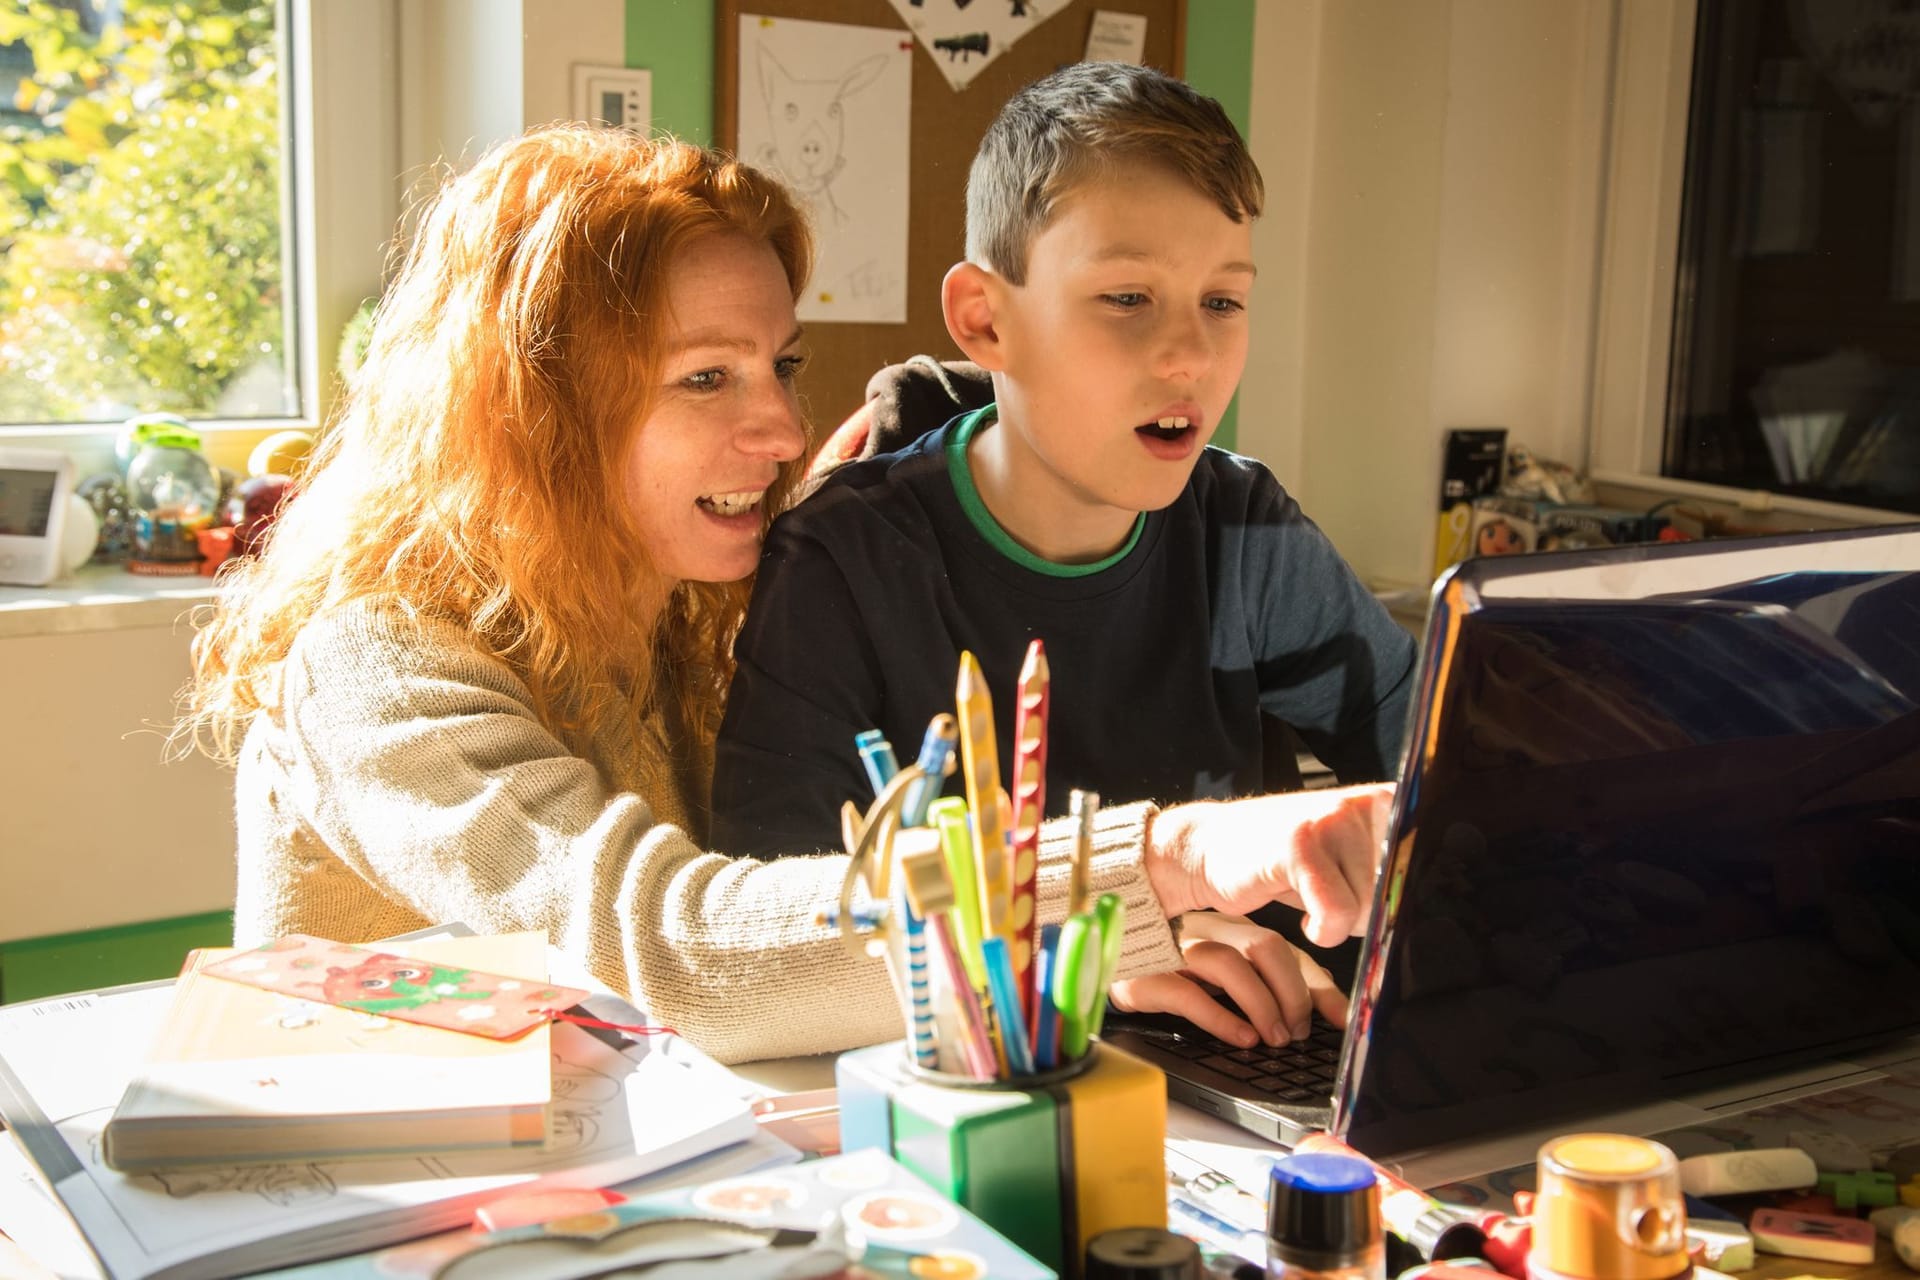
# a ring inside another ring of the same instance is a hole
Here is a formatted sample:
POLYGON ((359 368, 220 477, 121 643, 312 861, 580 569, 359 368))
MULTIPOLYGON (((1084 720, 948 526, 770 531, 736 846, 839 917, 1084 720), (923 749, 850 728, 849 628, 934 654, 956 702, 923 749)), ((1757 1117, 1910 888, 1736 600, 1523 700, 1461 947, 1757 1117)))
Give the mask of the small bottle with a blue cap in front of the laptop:
POLYGON ((1373 1165, 1288 1155, 1267 1194, 1269 1280, 1386 1280, 1386 1230, 1373 1165))

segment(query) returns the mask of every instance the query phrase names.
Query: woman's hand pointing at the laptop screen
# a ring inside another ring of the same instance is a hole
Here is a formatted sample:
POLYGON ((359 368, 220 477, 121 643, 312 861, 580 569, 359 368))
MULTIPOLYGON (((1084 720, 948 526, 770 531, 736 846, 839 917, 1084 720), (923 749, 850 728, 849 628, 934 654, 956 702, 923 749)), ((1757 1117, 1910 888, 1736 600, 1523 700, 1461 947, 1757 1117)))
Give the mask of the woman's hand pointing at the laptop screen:
POLYGON ((1367 927, 1392 783, 1177 804, 1146 833, 1146 879, 1167 919, 1284 902, 1302 931, 1332 946, 1367 927))

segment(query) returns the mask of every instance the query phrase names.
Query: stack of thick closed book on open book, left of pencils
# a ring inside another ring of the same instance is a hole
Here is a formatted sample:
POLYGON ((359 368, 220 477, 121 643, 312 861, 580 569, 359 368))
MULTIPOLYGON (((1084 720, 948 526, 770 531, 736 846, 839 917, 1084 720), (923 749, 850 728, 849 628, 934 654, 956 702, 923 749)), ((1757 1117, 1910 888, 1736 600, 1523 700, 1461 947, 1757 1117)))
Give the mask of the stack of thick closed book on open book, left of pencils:
MULTIPOLYGON (((394 948, 545 981, 538 935, 394 948)), ((528 1190, 630 1184, 735 1144, 768 1155, 737 1084, 672 1036, 559 1023, 490 1040, 204 973, 219 958, 179 983, 0 1006, 0 1142, 17 1148, 0 1228, 38 1194, 96 1274, 217 1280, 465 1228, 528 1190)))

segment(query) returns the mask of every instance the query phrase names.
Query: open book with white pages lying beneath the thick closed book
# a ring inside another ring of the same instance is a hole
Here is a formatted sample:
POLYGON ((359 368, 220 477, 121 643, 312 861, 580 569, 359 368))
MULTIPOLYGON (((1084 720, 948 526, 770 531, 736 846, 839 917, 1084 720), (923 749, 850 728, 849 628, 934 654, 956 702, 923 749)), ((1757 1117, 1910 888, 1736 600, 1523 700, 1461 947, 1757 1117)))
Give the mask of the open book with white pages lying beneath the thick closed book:
MULTIPOLYGON (((467 1226, 480 1203, 532 1184, 607 1186, 755 1136, 724 1077, 657 1040, 614 1048, 616 1034, 557 1025, 538 1150, 115 1173, 100 1130, 171 1004, 173 983, 144 983, 0 1006, 0 1121, 113 1280, 219 1280, 355 1253, 467 1226)), ((639 1021, 614 998, 586 1004, 639 1021)))

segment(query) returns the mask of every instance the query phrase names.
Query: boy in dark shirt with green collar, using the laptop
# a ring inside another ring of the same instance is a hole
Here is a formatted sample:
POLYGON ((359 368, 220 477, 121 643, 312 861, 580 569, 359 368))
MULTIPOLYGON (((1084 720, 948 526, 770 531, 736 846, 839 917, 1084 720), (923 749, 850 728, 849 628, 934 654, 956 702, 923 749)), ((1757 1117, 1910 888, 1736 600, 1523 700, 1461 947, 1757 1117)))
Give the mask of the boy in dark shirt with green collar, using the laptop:
MULTIPOLYGON (((910 756, 972 651, 1000 708, 1052 672, 1046 808, 1225 800, 1298 785, 1294 741, 1342 783, 1388 777, 1413 643, 1271 472, 1208 447, 1246 363, 1261 182, 1219 104, 1146 67, 1079 63, 1014 96, 968 178, 947 328, 993 405, 835 472, 768 535, 714 775, 714 839, 831 848, 870 794, 852 737, 910 756)), ((1302 794, 1273 841, 1379 789, 1302 794)), ((1177 812, 1177 810, 1169 810, 1177 812)), ((1327 938, 1315 938, 1325 942, 1327 938)), ((1252 1044, 1344 998, 1277 935, 1185 917, 1192 977, 1116 986, 1252 1044)))

